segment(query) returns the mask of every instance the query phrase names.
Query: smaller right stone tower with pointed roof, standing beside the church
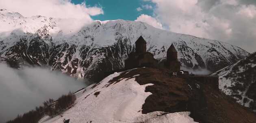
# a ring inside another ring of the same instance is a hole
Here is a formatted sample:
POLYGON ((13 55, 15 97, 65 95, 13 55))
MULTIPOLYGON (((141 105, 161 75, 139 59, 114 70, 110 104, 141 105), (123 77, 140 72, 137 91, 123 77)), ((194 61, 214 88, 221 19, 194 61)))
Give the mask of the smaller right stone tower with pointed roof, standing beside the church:
POLYGON ((166 54, 165 67, 173 72, 180 71, 180 62, 178 62, 178 52, 173 44, 169 47, 166 54))

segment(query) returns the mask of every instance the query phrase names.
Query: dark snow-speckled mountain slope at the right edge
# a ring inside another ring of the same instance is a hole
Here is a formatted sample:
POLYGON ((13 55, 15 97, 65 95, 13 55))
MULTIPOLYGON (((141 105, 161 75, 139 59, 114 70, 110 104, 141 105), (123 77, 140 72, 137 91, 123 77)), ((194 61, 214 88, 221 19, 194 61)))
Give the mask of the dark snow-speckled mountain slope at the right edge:
POLYGON ((256 53, 227 66, 213 75, 219 76, 219 89, 236 102, 256 111, 256 53))

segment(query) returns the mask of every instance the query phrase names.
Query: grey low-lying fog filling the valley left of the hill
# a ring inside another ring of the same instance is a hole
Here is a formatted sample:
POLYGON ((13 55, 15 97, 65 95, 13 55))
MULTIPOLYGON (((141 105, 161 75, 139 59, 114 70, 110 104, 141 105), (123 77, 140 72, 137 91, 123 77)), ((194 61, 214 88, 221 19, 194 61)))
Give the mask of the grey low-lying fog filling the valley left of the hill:
POLYGON ((0 64, 0 123, 34 109, 49 98, 56 99, 85 86, 85 80, 77 81, 48 68, 17 70, 0 64))

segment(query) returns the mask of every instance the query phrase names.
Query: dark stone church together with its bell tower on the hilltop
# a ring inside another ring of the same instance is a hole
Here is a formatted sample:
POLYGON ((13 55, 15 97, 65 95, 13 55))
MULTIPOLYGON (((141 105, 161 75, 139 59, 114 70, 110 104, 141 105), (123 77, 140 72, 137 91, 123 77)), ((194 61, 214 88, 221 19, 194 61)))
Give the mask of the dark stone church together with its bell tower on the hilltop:
MULTIPOLYGON (((125 68, 139 68, 139 67, 157 67, 157 60, 154 55, 147 52, 147 42, 142 36, 135 42, 135 52, 128 55, 125 60, 125 68)), ((178 62, 177 51, 173 44, 167 50, 167 59, 165 61, 165 68, 176 72, 180 70, 180 62, 178 62)))

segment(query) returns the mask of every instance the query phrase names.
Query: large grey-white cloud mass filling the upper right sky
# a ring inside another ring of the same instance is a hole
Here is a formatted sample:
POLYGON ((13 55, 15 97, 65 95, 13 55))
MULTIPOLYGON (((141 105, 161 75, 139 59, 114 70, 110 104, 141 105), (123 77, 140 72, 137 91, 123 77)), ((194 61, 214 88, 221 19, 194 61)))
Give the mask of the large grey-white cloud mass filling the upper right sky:
POLYGON ((253 0, 144 1, 155 4, 154 19, 165 25, 166 30, 222 40, 255 51, 256 2, 253 0))

